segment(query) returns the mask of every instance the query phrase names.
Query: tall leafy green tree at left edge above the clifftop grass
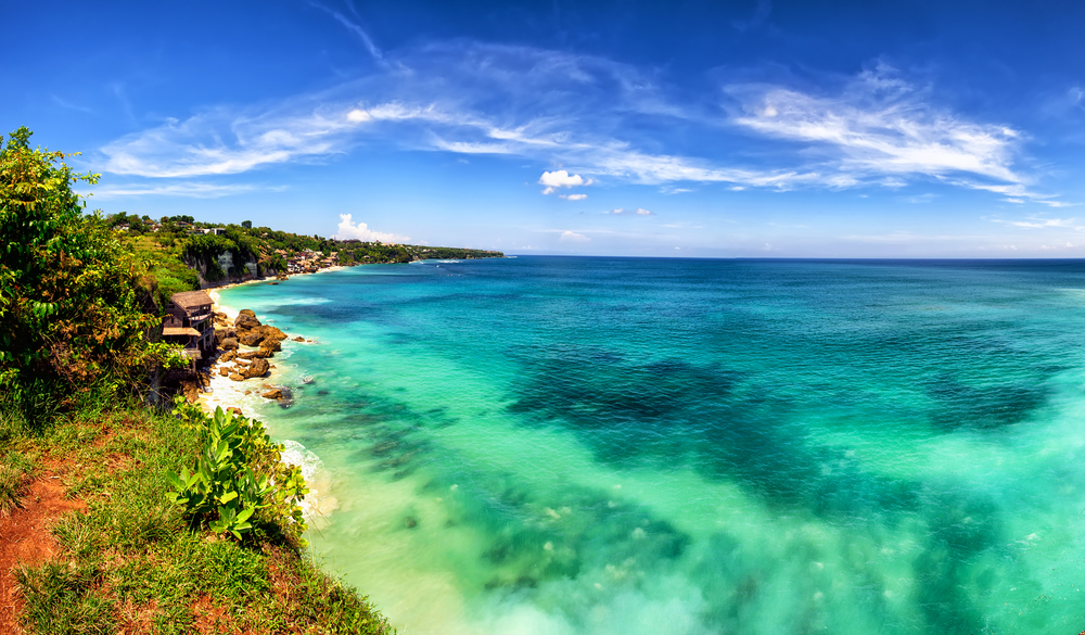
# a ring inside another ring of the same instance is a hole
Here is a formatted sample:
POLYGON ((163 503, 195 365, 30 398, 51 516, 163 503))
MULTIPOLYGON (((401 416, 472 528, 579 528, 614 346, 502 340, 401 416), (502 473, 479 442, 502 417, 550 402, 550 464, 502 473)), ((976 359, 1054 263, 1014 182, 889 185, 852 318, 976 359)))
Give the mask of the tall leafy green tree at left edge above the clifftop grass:
POLYGON ((30 135, 0 150, 0 405, 108 398, 170 356, 148 338, 153 282, 100 212, 84 214, 72 186, 98 175, 31 150, 30 135))

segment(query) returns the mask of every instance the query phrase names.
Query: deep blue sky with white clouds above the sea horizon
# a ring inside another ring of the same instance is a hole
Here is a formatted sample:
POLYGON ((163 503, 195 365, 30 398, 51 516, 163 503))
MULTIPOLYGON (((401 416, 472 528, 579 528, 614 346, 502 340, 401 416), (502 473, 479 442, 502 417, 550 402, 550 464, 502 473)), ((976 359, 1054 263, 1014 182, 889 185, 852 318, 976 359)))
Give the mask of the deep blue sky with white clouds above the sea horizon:
POLYGON ((1085 256, 1085 3, 7 2, 89 208, 507 254, 1085 256))

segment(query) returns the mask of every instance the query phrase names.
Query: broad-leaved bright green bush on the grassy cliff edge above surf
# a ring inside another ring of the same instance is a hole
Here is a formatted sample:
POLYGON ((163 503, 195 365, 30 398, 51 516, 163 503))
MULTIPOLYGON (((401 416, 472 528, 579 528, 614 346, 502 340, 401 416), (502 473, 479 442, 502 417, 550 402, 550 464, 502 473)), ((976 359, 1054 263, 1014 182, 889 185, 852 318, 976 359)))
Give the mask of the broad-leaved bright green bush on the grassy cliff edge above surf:
POLYGON ((258 518, 305 545, 301 536, 307 526, 298 505, 308 493, 305 478, 301 468, 282 462, 284 446, 271 443, 264 424, 222 408, 208 417, 180 397, 174 412, 203 440, 192 469, 167 474, 170 498, 184 507, 192 525, 206 523, 242 539, 258 518))

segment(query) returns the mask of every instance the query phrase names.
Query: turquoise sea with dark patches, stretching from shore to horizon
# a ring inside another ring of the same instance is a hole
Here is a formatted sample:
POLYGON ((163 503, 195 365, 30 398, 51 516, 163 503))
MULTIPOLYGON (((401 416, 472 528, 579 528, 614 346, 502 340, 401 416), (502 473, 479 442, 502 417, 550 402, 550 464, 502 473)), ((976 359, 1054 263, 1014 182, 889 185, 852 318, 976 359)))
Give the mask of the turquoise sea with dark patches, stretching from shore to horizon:
POLYGON ((521 257, 221 302, 315 340, 273 360, 290 408, 219 396, 400 632, 1085 630, 1085 264, 521 257))

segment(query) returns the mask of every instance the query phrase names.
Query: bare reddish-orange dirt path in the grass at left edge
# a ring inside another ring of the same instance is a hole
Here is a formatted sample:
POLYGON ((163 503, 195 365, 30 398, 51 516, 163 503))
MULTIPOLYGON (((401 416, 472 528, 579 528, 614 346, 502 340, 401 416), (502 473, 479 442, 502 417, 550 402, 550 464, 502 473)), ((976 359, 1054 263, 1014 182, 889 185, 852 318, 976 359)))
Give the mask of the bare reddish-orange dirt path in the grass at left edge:
POLYGON ((15 614, 23 608, 12 569, 37 564, 61 549, 49 528, 64 513, 86 504, 64 497, 60 478, 52 472, 34 481, 23 497, 23 508, 9 518, 0 517, 0 633, 17 633, 15 614))

